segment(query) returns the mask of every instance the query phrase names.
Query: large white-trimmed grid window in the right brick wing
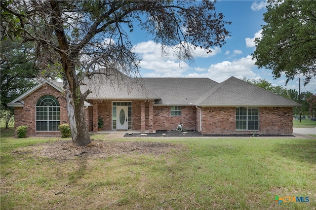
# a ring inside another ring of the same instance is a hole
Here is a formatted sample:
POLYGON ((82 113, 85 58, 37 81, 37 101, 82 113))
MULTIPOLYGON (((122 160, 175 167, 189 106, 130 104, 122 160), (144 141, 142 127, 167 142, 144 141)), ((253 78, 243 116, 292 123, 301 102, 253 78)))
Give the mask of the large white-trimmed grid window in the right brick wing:
POLYGON ((259 130, 259 107, 236 107, 236 130, 259 130))

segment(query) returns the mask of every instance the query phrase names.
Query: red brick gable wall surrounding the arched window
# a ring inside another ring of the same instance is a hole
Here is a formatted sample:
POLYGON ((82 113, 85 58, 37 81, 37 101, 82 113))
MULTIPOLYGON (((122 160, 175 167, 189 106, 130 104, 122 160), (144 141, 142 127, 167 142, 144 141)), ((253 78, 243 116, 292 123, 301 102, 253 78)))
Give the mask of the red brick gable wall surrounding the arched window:
POLYGON ((40 89, 24 98, 24 107, 14 108, 14 127, 28 125, 27 136, 60 136, 60 131, 36 131, 36 102, 43 95, 56 97, 60 105, 60 124, 69 123, 67 116, 67 104, 61 93, 50 85, 44 84, 40 89))

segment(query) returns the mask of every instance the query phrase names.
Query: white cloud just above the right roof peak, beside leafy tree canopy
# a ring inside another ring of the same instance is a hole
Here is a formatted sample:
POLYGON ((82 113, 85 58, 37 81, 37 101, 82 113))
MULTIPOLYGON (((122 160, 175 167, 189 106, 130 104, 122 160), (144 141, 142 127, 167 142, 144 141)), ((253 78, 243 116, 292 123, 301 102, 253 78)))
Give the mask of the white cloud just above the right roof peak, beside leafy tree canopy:
POLYGON ((187 77, 208 77, 217 82, 222 82, 231 76, 242 79, 244 76, 247 78, 254 78, 256 75, 252 68, 255 68, 255 61, 251 56, 236 59, 232 62, 223 61, 221 63, 212 64, 205 73, 190 73, 187 77))

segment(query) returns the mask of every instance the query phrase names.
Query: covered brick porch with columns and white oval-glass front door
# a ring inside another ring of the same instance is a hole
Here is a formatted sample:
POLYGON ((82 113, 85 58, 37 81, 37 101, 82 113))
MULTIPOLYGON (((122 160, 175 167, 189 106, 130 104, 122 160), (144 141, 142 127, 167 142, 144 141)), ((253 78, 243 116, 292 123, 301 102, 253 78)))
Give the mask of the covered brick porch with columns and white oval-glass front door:
POLYGON ((89 100, 91 133, 153 133, 154 100, 89 100), (98 131, 98 118, 104 125, 98 131))

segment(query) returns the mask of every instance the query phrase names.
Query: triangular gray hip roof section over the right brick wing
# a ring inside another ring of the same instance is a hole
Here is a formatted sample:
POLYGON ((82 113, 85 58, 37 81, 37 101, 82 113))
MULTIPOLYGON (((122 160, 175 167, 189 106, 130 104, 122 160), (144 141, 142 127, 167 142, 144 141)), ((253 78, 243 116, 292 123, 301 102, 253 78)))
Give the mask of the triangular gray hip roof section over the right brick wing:
POLYGON ((199 106, 299 106, 233 76, 214 86, 196 103, 199 106))

